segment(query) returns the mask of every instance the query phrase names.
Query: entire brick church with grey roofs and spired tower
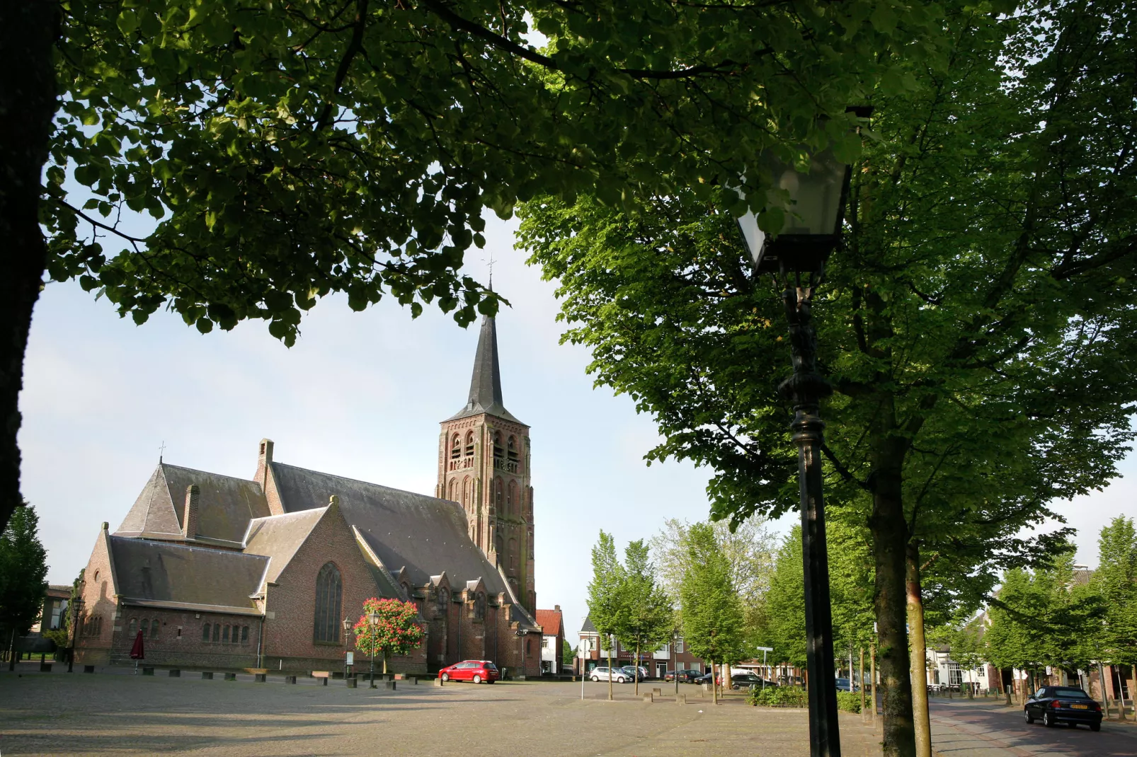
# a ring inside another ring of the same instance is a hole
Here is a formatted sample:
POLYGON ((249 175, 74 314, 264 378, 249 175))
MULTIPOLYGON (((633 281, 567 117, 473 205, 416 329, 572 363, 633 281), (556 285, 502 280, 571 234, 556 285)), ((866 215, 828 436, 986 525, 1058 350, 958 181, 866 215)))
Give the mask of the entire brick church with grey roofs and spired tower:
MULTIPOLYGON (((389 662, 489 659, 540 674, 529 426, 501 400, 493 318, 470 397, 441 424, 434 497, 288 465, 263 439, 251 479, 159 461, 83 574, 76 660, 308 672, 357 667, 370 597, 413 601, 426 637, 389 662)), ((251 467, 251 466, 250 466, 251 467)))

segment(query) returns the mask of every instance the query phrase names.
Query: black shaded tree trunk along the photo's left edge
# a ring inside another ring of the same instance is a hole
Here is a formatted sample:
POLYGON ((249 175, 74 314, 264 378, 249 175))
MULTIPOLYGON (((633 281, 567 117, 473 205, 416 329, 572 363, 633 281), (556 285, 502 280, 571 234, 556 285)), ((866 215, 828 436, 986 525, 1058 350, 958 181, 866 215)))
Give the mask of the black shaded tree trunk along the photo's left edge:
POLYGON ((40 297, 48 248, 40 231, 40 174, 48 159, 56 81, 51 48, 59 5, 0 3, 0 530, 19 492, 19 391, 32 308, 40 297))

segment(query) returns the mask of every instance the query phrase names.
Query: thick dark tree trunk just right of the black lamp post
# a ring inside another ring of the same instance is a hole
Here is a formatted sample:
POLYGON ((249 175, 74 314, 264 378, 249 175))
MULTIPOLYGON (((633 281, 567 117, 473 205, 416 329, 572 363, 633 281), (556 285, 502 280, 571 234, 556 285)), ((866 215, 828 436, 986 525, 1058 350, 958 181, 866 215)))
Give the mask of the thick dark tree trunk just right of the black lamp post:
POLYGON ((904 627, 907 618, 905 554, 908 532, 902 485, 907 442, 897 429, 896 408, 890 394, 881 397, 869 434, 873 483, 869 527, 877 568, 873 604, 880 644, 880 676, 885 688, 881 746, 885 757, 915 757, 908 640, 904 627))

